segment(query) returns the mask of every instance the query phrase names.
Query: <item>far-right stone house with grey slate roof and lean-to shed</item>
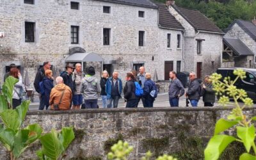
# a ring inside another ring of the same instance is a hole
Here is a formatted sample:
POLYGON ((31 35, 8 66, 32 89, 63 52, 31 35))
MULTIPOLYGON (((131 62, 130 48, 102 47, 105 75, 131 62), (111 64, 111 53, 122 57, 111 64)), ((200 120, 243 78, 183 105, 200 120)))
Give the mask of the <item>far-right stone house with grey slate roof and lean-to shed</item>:
POLYGON ((255 68, 256 20, 234 20, 225 29, 223 67, 255 68))

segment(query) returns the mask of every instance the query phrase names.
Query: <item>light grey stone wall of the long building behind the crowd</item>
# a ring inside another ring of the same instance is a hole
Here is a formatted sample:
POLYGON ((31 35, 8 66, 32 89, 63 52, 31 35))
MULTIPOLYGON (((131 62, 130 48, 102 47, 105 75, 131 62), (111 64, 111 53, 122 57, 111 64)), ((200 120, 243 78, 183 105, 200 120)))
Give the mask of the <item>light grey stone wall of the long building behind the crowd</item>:
POLYGON ((182 48, 175 47, 175 35, 182 35, 182 31, 160 29, 157 8, 76 1, 79 10, 70 9, 67 0, 35 0, 35 4, 1 1, 0 31, 5 36, 0 38, 0 81, 10 63, 28 70, 31 83, 43 61, 52 62, 56 76, 64 70, 65 58, 72 47, 99 54, 104 59, 103 64, 112 64, 123 79, 136 63, 143 63, 146 72, 157 70, 159 79, 164 79, 164 61, 173 61, 174 70, 176 61, 183 63, 182 48), (103 13, 103 6, 110 6, 111 13, 103 13), (145 17, 138 17, 138 11, 144 11, 145 17), (25 22, 35 22, 33 43, 25 42, 25 22), (79 44, 71 44, 70 26, 79 26, 79 44), (103 28, 111 29, 110 45, 103 45, 103 28), (145 31, 143 47, 138 46, 138 31, 145 31), (166 49, 166 33, 172 35, 172 49, 166 49))

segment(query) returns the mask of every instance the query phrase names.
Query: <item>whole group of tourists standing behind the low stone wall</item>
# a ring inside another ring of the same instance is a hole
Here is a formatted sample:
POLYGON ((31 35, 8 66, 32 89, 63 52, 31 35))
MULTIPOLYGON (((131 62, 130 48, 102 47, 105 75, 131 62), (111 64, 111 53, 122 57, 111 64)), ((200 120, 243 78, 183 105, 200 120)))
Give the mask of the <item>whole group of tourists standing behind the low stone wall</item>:
MULTIPOLYGON (((145 67, 140 67, 139 73, 136 70, 127 72, 125 85, 123 85, 118 72, 114 71, 109 76, 108 71, 104 70, 102 76, 95 76, 95 68, 86 67, 82 71, 81 63, 68 63, 66 70, 56 77, 54 86, 54 77, 52 77, 51 62, 45 61, 43 67, 38 70, 35 76, 34 87, 36 92, 40 93, 39 110, 68 110, 81 108, 99 108, 99 95, 102 99, 103 108, 117 108, 118 101, 124 100, 126 108, 138 108, 141 100, 143 107, 152 108, 154 100, 157 98, 157 86, 151 80, 151 74, 145 72, 145 67)), ((8 76, 19 79, 13 88, 13 108, 19 106, 22 102, 21 94, 24 90, 22 76, 15 64, 10 65, 10 72, 4 75, 4 81, 8 76)), ((213 106, 215 101, 215 92, 209 76, 205 76, 204 82, 196 78, 195 72, 189 73, 188 91, 185 92, 183 84, 177 78, 174 71, 170 71, 169 102, 171 107, 179 106, 179 98, 185 95, 187 103, 196 107, 198 100, 203 97, 204 106, 213 106)))

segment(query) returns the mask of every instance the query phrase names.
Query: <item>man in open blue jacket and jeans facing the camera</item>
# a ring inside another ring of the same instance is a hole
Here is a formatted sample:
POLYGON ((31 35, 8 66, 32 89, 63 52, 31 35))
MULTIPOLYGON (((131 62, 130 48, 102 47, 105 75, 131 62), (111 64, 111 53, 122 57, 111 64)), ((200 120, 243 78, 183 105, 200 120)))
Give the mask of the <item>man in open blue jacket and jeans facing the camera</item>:
POLYGON ((122 81, 118 78, 118 72, 113 72, 113 76, 108 79, 106 83, 106 93, 108 99, 107 108, 111 108, 112 102, 114 108, 117 108, 118 100, 122 98, 122 81))

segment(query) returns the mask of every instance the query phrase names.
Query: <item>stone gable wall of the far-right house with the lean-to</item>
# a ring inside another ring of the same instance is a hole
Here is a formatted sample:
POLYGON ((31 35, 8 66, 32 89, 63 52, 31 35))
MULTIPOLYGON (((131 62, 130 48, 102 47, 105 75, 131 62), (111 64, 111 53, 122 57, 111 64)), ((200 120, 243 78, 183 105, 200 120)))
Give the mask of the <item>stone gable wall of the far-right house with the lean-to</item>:
POLYGON ((236 66, 243 66, 246 68, 255 68, 255 55, 256 55, 256 42, 255 40, 252 39, 250 35, 248 35, 237 23, 235 23, 232 28, 228 29, 227 33, 225 34, 224 37, 227 38, 237 38, 241 40, 253 53, 253 56, 247 56, 246 58, 243 58, 244 61, 241 63, 241 60, 236 61, 237 65, 236 66), (250 61, 252 63, 250 64, 250 61))

